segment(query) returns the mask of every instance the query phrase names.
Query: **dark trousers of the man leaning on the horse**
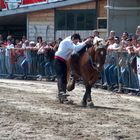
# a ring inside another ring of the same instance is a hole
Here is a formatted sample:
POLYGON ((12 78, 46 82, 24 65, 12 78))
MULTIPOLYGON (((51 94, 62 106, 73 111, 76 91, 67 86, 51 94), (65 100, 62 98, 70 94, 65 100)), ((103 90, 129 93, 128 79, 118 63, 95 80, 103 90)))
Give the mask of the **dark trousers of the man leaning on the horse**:
POLYGON ((66 93, 67 87, 67 65, 65 62, 59 59, 54 60, 54 68, 57 77, 58 93, 66 93))

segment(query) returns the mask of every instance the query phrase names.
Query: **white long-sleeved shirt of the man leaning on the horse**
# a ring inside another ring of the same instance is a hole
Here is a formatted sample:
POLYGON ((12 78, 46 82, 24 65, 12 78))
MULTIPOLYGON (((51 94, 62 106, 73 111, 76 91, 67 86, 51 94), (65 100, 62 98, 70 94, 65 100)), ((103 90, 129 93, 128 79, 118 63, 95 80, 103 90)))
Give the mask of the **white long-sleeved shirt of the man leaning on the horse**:
POLYGON ((85 42, 75 45, 71 40, 71 36, 69 36, 61 41, 55 56, 59 56, 64 60, 68 60, 73 52, 80 51, 85 45, 85 42))

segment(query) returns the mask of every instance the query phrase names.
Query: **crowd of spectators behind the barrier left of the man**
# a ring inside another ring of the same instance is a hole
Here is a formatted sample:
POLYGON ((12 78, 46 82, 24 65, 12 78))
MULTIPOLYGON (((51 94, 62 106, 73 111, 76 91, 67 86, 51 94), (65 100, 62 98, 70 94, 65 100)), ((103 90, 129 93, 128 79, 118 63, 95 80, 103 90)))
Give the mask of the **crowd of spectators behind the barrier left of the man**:
POLYGON ((9 35, 4 42, 0 35, 0 76, 6 75, 10 79, 15 75, 21 75, 22 79, 45 76, 47 80, 55 80, 53 58, 61 40, 47 43, 39 36, 34 42, 25 36, 14 40, 9 35))

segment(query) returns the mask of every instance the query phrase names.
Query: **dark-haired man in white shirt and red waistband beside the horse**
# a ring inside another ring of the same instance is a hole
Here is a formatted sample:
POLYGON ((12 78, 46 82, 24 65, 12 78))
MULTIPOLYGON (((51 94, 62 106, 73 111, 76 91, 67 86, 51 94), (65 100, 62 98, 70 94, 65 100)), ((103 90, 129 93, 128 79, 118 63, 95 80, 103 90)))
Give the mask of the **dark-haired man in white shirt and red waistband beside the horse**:
MULTIPOLYGON (((55 53, 54 66, 57 76, 58 86, 58 98, 66 97, 66 86, 67 86, 67 65, 66 62, 70 58, 73 52, 80 51, 86 44, 92 41, 92 38, 86 39, 80 43, 80 35, 73 34, 65 38, 59 44, 58 50, 55 53)), ((64 99, 64 98, 63 98, 64 99)), ((67 98, 65 98, 67 100, 67 98)))

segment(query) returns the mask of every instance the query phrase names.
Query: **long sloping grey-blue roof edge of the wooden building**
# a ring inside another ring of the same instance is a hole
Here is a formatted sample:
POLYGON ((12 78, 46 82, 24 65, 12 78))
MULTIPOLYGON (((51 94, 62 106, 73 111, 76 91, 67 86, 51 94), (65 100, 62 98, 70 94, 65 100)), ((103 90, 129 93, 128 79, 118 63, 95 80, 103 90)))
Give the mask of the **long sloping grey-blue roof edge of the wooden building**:
POLYGON ((94 0, 59 0, 57 2, 40 2, 36 4, 28 4, 28 5, 21 5, 17 9, 12 10, 2 10, 0 12, 0 17, 9 16, 9 15, 17 15, 17 14, 26 14, 29 12, 35 12, 40 10, 47 10, 47 9, 54 9, 64 6, 76 5, 81 3, 86 3, 94 0))

